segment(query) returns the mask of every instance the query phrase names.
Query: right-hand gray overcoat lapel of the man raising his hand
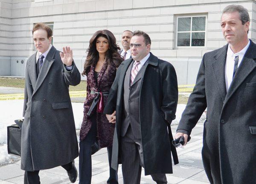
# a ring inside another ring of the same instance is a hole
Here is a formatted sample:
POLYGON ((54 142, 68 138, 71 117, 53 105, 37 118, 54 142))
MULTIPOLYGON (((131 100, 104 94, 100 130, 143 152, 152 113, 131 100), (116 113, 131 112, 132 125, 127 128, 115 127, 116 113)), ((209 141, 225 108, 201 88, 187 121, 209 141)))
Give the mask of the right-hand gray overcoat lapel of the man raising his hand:
POLYGON ((42 65, 41 71, 39 72, 38 79, 35 83, 35 88, 33 95, 38 91, 42 83, 44 82, 45 77, 47 76, 52 63, 54 62, 55 59, 53 59, 54 55, 56 52, 56 48, 52 46, 52 48, 49 50, 49 53, 47 54, 46 58, 44 59, 44 64, 42 65))

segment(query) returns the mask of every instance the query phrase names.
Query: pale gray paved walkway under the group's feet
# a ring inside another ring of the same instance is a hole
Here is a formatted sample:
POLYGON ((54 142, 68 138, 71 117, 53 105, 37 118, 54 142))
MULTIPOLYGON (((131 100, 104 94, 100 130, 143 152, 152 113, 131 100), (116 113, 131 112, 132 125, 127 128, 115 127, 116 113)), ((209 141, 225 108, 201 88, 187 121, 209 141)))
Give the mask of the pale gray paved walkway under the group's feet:
MULTIPOLYGON (((177 125, 172 126, 174 135, 177 125)), ((178 148, 180 163, 173 166, 173 174, 167 174, 168 184, 207 184, 209 183, 204 172, 201 159, 203 124, 198 123, 192 130, 191 141, 184 147, 178 148)), ((79 167, 79 159, 75 160, 79 167)), ((132 169, 132 168, 131 168, 132 169)), ((108 153, 105 148, 92 156, 92 184, 106 184, 109 176, 108 153)), ((39 173, 41 184, 70 184, 66 171, 62 167, 42 170, 39 173)), ((20 161, 0 167, 0 184, 23 184, 24 171, 20 170, 20 161)), ((118 170, 119 184, 122 182, 122 169, 118 170)), ((79 183, 79 177, 76 184, 79 183)), ((151 176, 141 175, 141 184, 155 184, 151 176)))

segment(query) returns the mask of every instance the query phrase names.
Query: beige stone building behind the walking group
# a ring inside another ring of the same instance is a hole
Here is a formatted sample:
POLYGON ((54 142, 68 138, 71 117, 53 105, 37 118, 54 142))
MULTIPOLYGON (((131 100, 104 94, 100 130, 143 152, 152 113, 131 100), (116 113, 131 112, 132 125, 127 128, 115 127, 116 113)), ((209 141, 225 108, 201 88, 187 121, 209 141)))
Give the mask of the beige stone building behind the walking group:
POLYGON ((220 19, 230 4, 248 9, 255 41, 255 0, 0 0, 0 75, 24 76, 33 25, 44 22, 58 50, 73 49, 80 71, 95 31, 112 31, 122 47, 122 32, 139 29, 151 37, 151 52, 175 66, 179 85, 194 84, 204 53, 226 44, 220 19))

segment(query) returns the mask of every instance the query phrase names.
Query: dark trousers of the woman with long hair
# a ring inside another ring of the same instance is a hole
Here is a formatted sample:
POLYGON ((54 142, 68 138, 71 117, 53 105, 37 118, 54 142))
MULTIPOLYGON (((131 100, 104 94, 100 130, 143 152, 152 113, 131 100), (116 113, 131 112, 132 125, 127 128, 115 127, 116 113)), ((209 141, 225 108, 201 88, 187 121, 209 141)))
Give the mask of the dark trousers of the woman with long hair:
MULTIPOLYGON (((95 116, 92 116, 91 118, 93 119, 92 127, 85 139, 79 143, 79 184, 90 184, 92 179, 91 146, 96 139, 97 124, 95 116)), ((107 184, 118 184, 117 171, 111 168, 112 146, 107 147, 107 150, 109 162, 109 178, 107 184)))

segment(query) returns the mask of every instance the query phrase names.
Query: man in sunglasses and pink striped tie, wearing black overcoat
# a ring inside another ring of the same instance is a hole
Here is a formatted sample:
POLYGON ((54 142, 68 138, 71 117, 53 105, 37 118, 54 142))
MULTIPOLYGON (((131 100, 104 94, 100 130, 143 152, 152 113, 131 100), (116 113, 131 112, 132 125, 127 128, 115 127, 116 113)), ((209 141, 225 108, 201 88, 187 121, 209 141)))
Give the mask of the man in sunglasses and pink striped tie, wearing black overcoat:
POLYGON ((177 76, 169 62, 150 53, 148 34, 134 31, 130 44, 132 58, 117 69, 104 108, 108 120, 116 121, 112 167, 122 161, 124 184, 140 184, 141 167, 157 184, 167 184, 175 151, 167 125, 175 119, 177 76))

